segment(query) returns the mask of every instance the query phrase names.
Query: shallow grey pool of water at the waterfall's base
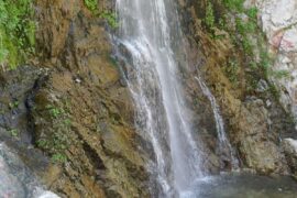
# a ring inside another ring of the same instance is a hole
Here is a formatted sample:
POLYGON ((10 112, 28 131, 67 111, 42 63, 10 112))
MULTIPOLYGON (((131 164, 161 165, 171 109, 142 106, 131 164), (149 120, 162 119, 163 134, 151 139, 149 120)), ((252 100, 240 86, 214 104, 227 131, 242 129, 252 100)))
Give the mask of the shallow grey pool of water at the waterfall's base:
POLYGON ((292 177, 252 174, 221 174, 197 179, 180 198, 297 198, 297 182, 292 177))

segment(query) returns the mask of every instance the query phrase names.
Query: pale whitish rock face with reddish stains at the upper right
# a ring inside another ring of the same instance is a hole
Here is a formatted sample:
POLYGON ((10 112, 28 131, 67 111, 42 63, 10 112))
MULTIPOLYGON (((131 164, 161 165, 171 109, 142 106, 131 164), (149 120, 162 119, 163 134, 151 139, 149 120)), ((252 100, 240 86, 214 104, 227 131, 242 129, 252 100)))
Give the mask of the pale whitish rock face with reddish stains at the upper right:
POLYGON ((258 20, 274 55, 274 70, 287 73, 273 78, 280 90, 280 102, 286 111, 297 117, 297 2, 295 0, 246 1, 246 7, 258 9, 258 20))

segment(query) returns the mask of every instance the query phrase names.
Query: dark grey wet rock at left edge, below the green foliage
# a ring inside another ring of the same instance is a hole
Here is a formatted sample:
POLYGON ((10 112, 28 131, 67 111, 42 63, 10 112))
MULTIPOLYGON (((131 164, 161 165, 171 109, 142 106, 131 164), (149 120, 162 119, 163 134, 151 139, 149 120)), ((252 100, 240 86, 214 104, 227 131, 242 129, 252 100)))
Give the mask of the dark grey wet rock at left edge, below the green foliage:
POLYGON ((35 174, 47 168, 48 160, 32 145, 34 135, 31 118, 28 116, 28 96, 44 75, 44 69, 34 66, 20 66, 0 74, 0 141, 18 151, 19 157, 35 174))

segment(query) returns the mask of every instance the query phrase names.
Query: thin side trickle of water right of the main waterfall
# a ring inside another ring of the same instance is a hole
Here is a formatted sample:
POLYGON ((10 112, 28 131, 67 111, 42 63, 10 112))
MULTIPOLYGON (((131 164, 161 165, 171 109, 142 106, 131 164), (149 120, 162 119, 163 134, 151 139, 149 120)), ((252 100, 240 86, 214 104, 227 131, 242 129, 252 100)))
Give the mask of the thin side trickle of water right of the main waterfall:
POLYGON ((213 117, 215 117, 215 121, 216 121, 216 128, 217 128, 217 132, 218 132, 218 141, 219 141, 218 148, 220 152, 226 152, 224 154, 228 155, 228 158, 231 160, 231 168, 233 170, 235 170, 239 168, 239 162, 238 162, 238 158, 235 157, 234 151, 229 142, 229 139, 227 138, 227 134, 224 131, 223 119, 221 117, 220 109, 219 109, 219 106, 216 101, 216 98, 213 97, 213 95, 211 94, 211 91, 209 90, 209 88, 206 86, 206 84, 202 81, 202 79, 200 77, 196 77, 196 79, 197 79, 204 95, 210 101, 210 105, 212 108, 212 112, 213 112, 213 117))

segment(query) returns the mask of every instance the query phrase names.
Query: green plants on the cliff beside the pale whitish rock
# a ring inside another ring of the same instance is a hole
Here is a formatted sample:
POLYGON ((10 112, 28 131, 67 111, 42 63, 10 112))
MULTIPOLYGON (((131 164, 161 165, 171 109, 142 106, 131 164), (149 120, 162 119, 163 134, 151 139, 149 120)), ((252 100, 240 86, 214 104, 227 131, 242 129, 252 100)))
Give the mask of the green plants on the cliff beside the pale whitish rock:
MULTIPOLYGON (((256 7, 244 8, 243 3, 244 0, 206 1, 202 24, 212 38, 223 38, 216 35, 220 32, 216 29, 229 34, 238 52, 222 67, 223 72, 234 86, 239 85, 239 78, 244 78, 242 85, 253 92, 260 79, 270 81, 271 76, 285 78, 288 74, 285 70, 273 72, 273 58, 267 51, 265 35, 257 25, 258 10, 256 7)), ((273 92, 275 89, 272 88, 273 92)))

